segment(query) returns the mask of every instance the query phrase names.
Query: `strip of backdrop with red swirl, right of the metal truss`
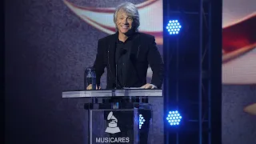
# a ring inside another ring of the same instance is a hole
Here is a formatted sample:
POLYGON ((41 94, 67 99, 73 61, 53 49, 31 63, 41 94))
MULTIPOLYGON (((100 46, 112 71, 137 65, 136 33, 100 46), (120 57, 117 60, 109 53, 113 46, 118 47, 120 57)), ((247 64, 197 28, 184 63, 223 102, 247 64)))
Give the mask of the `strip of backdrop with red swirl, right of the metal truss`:
POLYGON ((222 143, 256 143, 256 1, 223 0, 222 143))

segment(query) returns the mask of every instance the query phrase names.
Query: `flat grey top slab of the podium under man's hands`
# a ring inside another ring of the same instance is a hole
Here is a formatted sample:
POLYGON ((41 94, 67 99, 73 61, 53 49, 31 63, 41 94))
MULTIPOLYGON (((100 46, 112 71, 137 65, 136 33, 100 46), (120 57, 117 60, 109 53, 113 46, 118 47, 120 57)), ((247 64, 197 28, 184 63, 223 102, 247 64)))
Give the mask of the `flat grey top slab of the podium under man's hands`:
POLYGON ((77 90, 63 91, 62 98, 99 98, 99 97, 162 97, 162 90, 77 90))

